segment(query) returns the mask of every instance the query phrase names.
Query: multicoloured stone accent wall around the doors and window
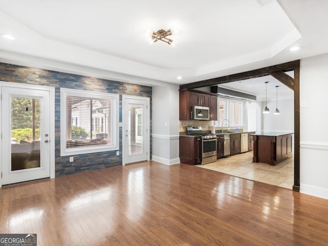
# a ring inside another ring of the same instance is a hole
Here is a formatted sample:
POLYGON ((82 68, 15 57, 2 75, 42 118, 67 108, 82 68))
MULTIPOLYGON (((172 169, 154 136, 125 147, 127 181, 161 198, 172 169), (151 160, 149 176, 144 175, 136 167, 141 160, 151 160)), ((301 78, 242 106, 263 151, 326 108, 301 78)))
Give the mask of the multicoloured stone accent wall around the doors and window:
MULTIPOLYGON (((60 88, 119 94, 119 122, 122 122, 122 95, 149 97, 151 136, 152 87, 5 63, 0 63, 0 80, 55 88, 56 177, 122 165, 121 127, 119 127, 119 156, 116 156, 116 151, 73 155, 73 162, 69 161, 69 156, 60 156, 60 88)), ((152 146, 152 139, 150 139, 150 146, 152 146)), ((152 149, 150 149, 150 157, 151 154, 152 149)))

